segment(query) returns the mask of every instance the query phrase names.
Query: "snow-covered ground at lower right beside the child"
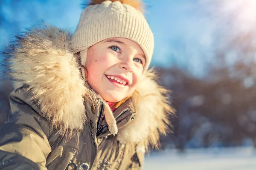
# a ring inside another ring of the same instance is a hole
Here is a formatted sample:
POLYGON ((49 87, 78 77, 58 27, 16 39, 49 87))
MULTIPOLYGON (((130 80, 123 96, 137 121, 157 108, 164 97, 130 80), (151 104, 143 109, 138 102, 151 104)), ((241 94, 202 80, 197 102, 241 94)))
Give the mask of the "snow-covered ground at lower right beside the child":
POLYGON ((256 170, 252 147, 165 150, 146 156, 143 170, 256 170))

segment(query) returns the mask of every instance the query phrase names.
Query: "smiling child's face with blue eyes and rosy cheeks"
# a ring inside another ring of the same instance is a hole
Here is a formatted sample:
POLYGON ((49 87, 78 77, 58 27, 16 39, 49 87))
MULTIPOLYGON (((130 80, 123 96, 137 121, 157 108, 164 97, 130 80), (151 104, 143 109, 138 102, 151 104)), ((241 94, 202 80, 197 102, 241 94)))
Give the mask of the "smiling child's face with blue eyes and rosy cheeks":
POLYGON ((145 55, 136 42, 125 38, 107 39, 87 51, 87 82, 106 101, 119 102, 135 91, 144 65, 145 55))

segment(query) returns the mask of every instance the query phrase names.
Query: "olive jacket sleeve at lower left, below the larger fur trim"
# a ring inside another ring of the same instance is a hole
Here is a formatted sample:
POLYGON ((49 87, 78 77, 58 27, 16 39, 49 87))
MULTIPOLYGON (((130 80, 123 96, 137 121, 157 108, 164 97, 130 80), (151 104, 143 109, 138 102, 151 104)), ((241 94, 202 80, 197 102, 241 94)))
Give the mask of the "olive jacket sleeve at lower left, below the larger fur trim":
POLYGON ((10 94, 8 122, 0 127, 1 170, 47 170, 49 122, 23 87, 10 94))

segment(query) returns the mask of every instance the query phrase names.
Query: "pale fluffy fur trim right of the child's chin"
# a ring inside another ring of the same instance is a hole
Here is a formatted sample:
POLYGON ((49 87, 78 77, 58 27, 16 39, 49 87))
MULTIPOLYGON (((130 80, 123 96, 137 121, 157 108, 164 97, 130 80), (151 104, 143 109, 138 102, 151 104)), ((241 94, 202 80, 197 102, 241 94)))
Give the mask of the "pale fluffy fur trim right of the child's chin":
POLYGON ((170 115, 175 111, 166 97, 168 91, 157 84, 153 69, 144 74, 144 78, 136 91, 140 94, 137 104, 137 114, 134 120, 119 130, 117 139, 124 144, 139 144, 159 147, 160 135, 170 131, 170 115))

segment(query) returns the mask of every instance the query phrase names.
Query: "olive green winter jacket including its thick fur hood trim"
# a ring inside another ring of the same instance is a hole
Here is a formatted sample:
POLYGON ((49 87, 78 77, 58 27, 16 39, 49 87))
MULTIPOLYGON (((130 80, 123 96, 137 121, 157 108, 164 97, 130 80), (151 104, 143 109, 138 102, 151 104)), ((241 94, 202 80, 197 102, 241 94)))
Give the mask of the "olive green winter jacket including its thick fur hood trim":
POLYGON ((34 28, 17 37, 9 66, 20 86, 0 127, 1 170, 140 169, 145 152, 168 130, 173 110, 166 90, 147 71, 114 111, 112 134, 102 119, 110 108, 81 77, 65 31, 34 28))

